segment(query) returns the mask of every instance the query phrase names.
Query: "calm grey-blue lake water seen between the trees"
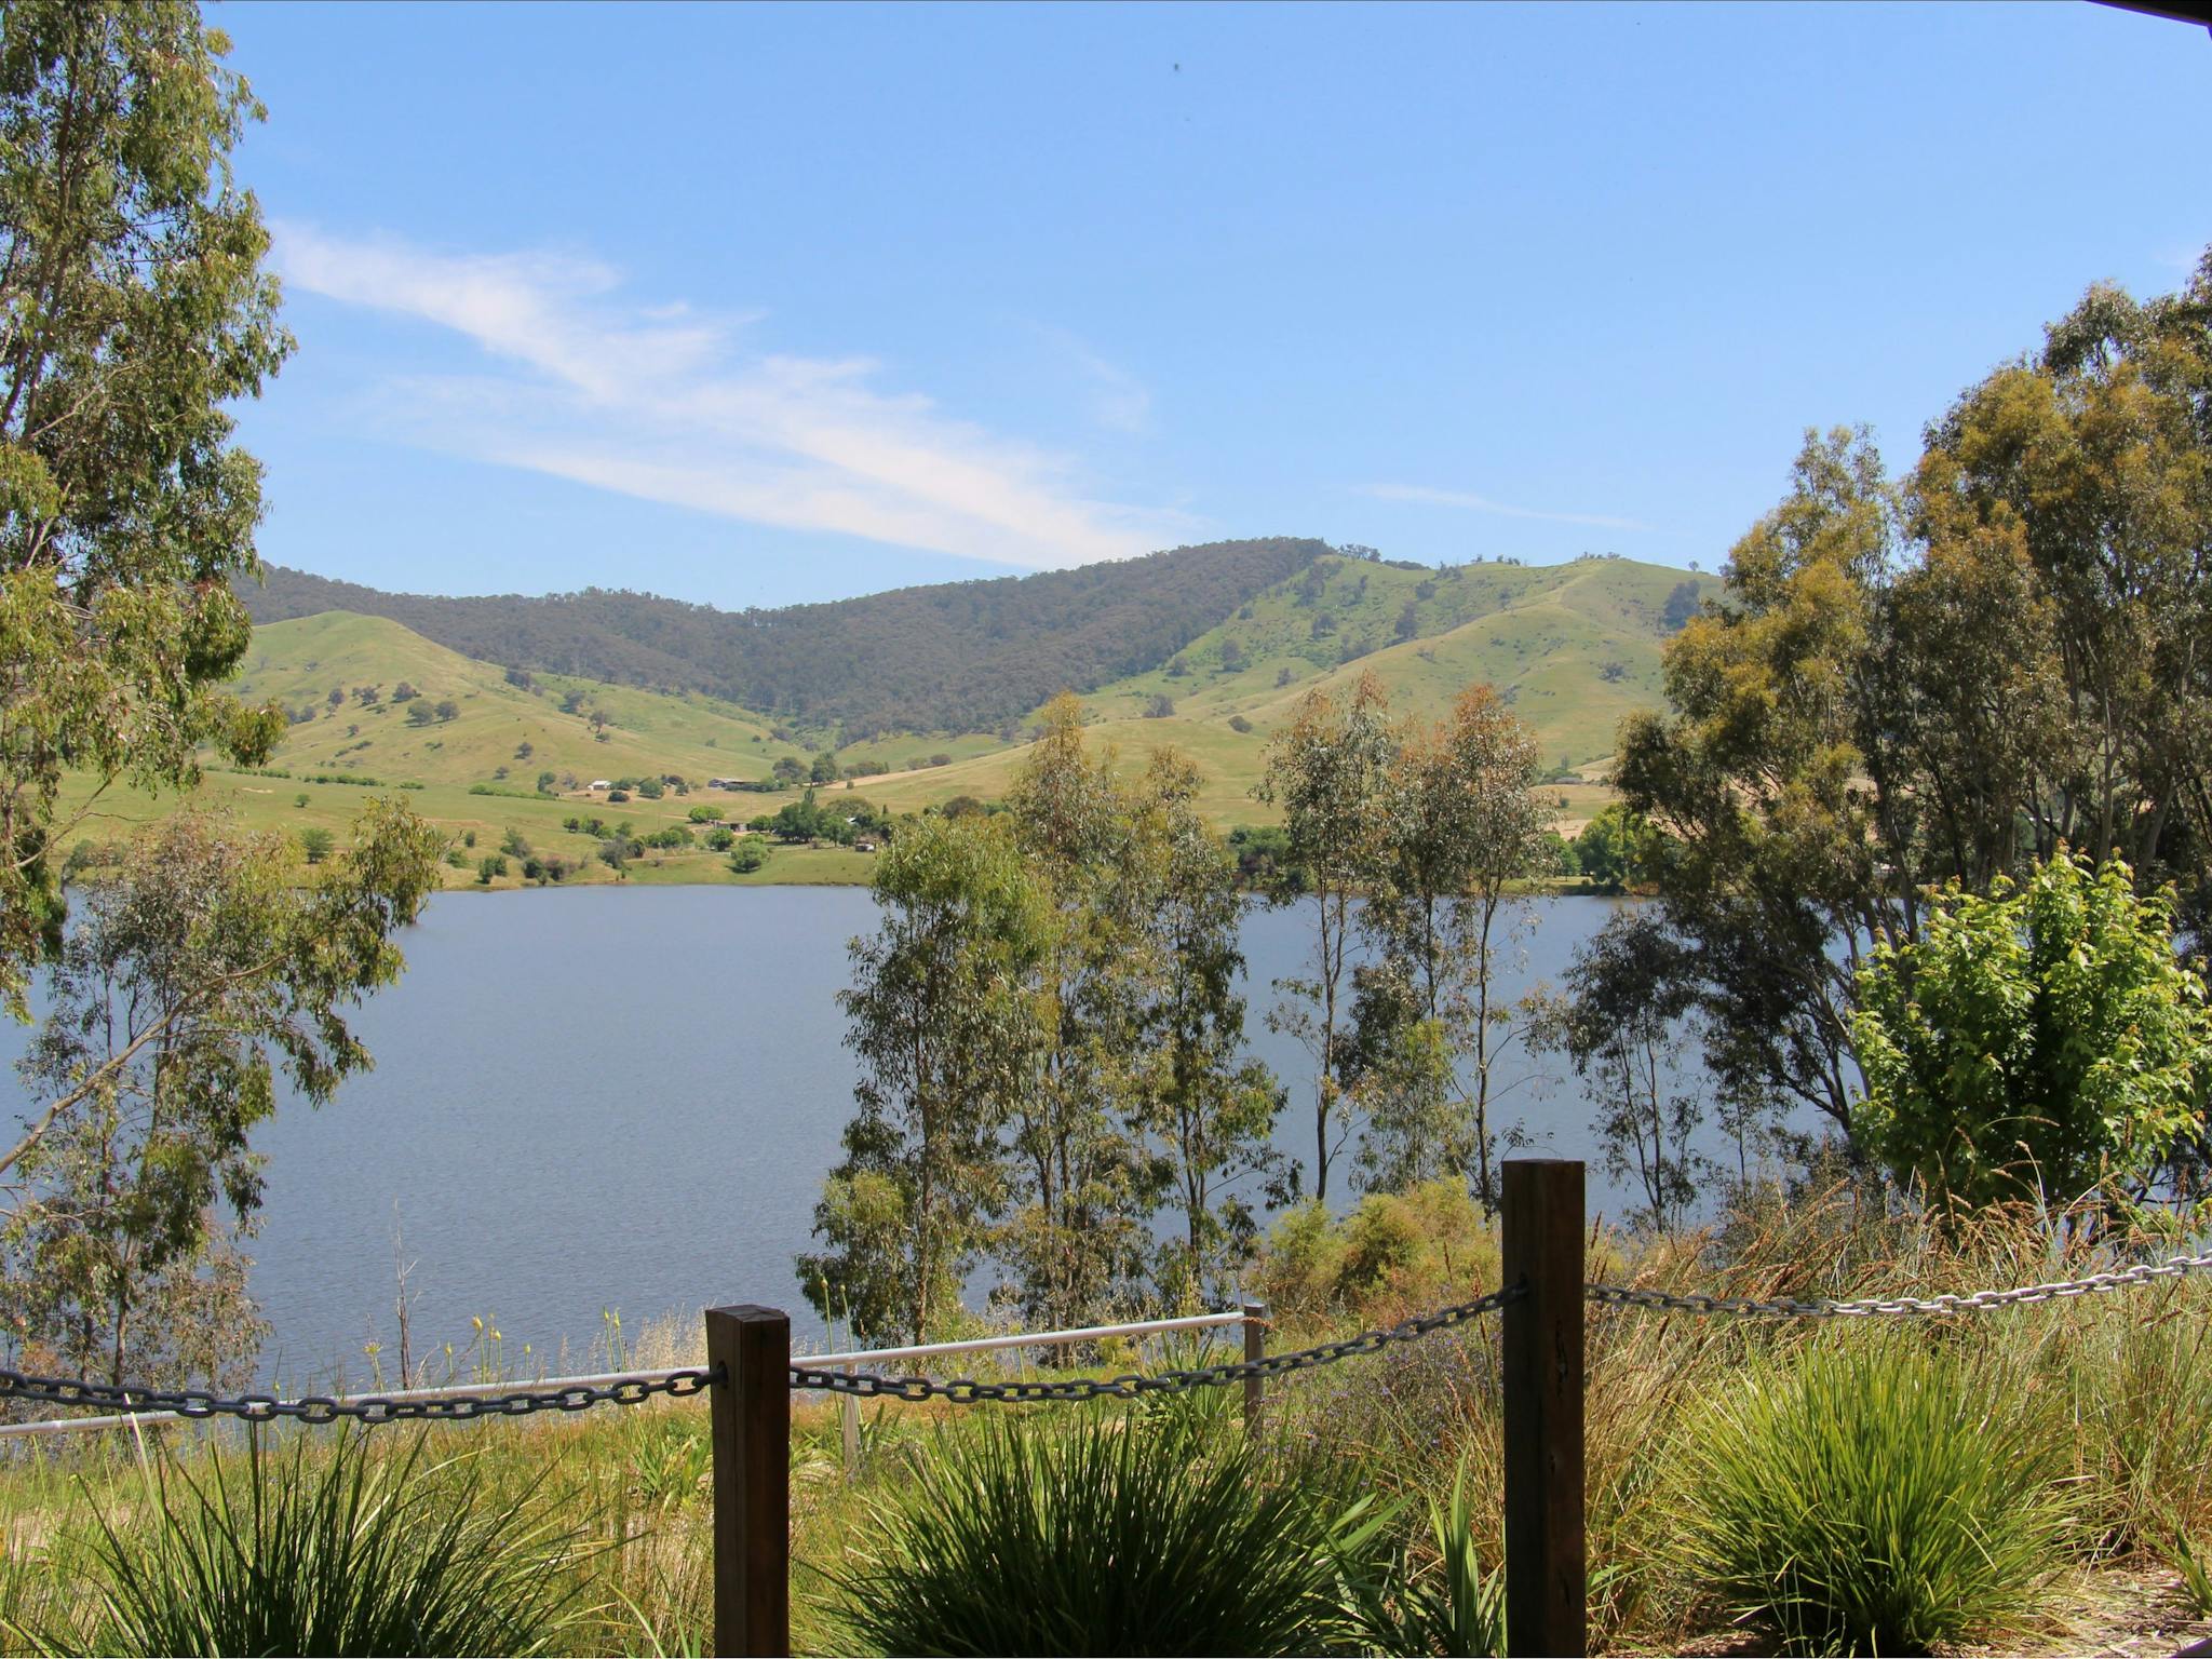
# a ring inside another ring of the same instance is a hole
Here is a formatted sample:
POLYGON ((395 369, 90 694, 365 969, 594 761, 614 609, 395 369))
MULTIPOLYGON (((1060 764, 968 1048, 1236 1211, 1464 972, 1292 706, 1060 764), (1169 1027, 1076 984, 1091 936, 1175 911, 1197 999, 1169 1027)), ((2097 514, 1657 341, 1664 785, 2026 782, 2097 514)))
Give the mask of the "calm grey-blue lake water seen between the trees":
MULTIPOLYGON (((1506 993, 1557 980, 1608 900, 1555 898, 1506 993)), ((792 1310, 823 1172, 852 1110, 836 993, 845 942, 874 927, 856 887, 628 887, 434 898, 407 975, 361 1011, 376 1071, 257 1137, 268 1208, 252 1287, 270 1380, 365 1380, 394 1354, 396 1234, 416 1352, 498 1325, 509 1363, 588 1358, 604 1314, 628 1332, 708 1303, 792 1310)), ((1307 914, 1245 918, 1252 1048, 1290 1082, 1281 1144, 1312 1150, 1305 1051, 1265 1031, 1270 982, 1298 971, 1307 914)), ((13 1062, 22 1033, 0 1029, 13 1062)), ((1546 1062, 1559 1071, 1564 1062, 1546 1062)), ((1520 1068, 1522 1073, 1528 1066, 1520 1068)), ((1542 1148, 1590 1152, 1573 1082, 1528 1086, 1542 1148)), ((1349 1164, 1332 1170, 1332 1194, 1349 1164)), ((1624 1208, 1593 1166, 1593 1208, 1624 1208)))

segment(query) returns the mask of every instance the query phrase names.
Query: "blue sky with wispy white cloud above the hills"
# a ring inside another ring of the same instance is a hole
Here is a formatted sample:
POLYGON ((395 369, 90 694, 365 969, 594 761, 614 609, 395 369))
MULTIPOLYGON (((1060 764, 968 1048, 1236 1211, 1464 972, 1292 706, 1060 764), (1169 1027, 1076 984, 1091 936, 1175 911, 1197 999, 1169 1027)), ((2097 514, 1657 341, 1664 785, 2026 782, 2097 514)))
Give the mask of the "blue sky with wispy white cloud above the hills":
POLYGON ((2203 29, 1971 7, 223 4, 265 557, 719 606, 1234 535, 1725 557, 2212 243, 2203 29))

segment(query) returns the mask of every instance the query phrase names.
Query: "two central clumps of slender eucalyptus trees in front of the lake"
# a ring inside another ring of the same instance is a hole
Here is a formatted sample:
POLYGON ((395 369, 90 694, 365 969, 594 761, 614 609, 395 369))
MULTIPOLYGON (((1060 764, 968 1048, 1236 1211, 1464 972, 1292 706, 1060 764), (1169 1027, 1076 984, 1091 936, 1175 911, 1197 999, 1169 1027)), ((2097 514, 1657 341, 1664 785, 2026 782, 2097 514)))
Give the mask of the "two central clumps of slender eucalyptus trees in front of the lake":
POLYGON ((860 1110, 805 1294, 867 1338, 938 1329, 982 1259, 1029 1321, 1190 1305, 1234 1281, 1263 1201, 1325 1199, 1347 1152, 1363 1186, 1467 1175, 1493 1201, 1489 987, 1506 883, 1546 845, 1537 770, 1489 688, 1391 726, 1363 677, 1276 737, 1261 794, 1314 936, 1267 1013, 1316 1062, 1298 1164, 1243 1053, 1243 896, 1197 768, 1166 748, 1124 779, 1055 699, 1004 812, 907 821, 876 869, 843 993, 860 1110))

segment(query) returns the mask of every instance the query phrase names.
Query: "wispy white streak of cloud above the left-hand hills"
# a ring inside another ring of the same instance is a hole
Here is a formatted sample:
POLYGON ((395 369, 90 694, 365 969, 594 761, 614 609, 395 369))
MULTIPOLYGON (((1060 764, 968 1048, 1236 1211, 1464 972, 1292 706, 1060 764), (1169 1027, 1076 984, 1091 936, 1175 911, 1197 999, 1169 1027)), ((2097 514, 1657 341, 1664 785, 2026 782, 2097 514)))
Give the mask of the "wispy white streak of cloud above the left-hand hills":
POLYGON ((869 358, 752 349, 745 332, 759 316, 628 303, 622 274, 595 259, 438 254, 279 223, 276 263, 294 288, 436 323, 491 358, 489 372, 383 387, 387 416, 438 449, 728 518, 1031 568, 1190 540, 1181 513, 1091 500, 1064 456, 880 389, 869 358))

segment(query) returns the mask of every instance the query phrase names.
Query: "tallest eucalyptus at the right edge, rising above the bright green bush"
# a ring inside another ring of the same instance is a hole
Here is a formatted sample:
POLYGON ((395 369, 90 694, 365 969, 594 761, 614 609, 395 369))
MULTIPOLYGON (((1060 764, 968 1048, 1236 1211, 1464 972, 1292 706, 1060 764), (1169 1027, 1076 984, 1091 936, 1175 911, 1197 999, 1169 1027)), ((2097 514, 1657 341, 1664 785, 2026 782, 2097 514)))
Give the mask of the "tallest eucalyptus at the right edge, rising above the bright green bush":
MULTIPOLYGON (((2048 860, 2064 841, 2117 856, 2141 883, 2212 876, 2212 250, 2177 294, 2108 285, 2051 325, 2044 347, 1969 387, 1929 429, 1911 478, 1931 557, 1986 571, 1991 635, 2033 664, 1964 661, 1938 708, 1995 739, 1982 823, 2015 814, 2048 860), (2015 597, 2017 595, 2017 597, 2015 597), (1993 699, 1984 686, 2002 688, 1993 699), (1966 697, 1958 692, 1969 692, 1966 697), (2031 721, 1973 721, 1973 699, 2031 721)), ((1955 635, 1944 644, 1971 641, 1955 635)), ((1953 675, 1960 664, 1927 659, 1953 675)), ((1962 872, 1973 880, 1973 872, 1962 872)), ((2205 898, 2197 898, 2199 914, 2205 898)))

